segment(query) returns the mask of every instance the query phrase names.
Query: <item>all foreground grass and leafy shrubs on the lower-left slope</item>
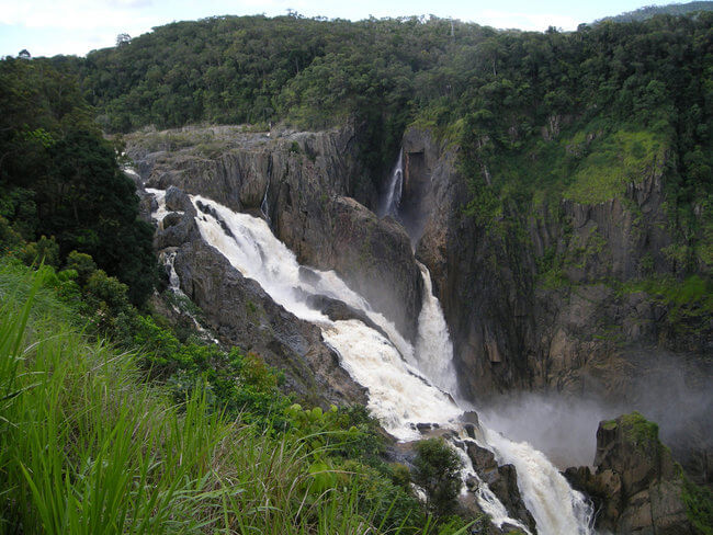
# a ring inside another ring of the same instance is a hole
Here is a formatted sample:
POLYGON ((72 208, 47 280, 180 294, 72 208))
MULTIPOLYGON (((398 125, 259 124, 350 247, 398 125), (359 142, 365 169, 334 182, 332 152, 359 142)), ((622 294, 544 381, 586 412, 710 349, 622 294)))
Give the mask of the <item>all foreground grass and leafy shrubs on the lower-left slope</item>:
POLYGON ((88 335, 106 323, 86 322, 77 305, 110 309, 87 286, 77 300, 76 281, 76 270, 0 263, 1 532, 465 525, 427 514, 408 469, 381 459, 384 440, 364 408, 304 409, 276 390, 259 356, 179 342, 132 308, 121 314, 148 326, 134 341, 143 349, 88 335))

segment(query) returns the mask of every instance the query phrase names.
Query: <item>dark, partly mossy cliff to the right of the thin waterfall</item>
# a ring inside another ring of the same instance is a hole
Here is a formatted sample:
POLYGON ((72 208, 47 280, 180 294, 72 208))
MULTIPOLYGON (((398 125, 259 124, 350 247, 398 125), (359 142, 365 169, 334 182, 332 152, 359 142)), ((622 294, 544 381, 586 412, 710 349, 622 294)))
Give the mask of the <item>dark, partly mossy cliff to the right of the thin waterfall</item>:
MULTIPOLYGON (((666 162, 632 181, 622 198, 592 205, 565 198, 527 214, 506 205, 494 230, 463 213, 472 195, 457 156, 428 129, 404 135, 401 206, 443 307, 464 397, 485 401, 509 390, 588 395, 640 407, 659 420, 666 409, 652 395, 655 388, 670 386, 674 377, 677 395, 713 388, 705 358, 713 353, 713 323, 677 326, 676 305, 622 291, 645 275, 676 273, 665 254, 672 243, 666 162), (562 263, 547 268, 552 258, 562 263)), ((686 443, 666 435, 676 457, 710 482, 710 419, 699 413, 676 420, 677 430, 687 428, 677 431, 686 443)))

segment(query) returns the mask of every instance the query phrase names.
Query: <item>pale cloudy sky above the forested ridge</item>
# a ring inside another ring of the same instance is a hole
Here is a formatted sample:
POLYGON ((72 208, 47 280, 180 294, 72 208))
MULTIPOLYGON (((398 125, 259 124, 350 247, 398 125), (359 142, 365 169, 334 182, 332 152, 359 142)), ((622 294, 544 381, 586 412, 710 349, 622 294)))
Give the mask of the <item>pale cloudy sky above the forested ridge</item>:
MULTIPOLYGON (((670 3, 670 2, 664 2, 670 3)), ((114 46, 173 21, 215 15, 283 15, 353 21, 375 16, 434 14, 494 27, 575 30, 581 22, 650 5, 650 0, 0 0, 0 56, 75 54, 114 46)))

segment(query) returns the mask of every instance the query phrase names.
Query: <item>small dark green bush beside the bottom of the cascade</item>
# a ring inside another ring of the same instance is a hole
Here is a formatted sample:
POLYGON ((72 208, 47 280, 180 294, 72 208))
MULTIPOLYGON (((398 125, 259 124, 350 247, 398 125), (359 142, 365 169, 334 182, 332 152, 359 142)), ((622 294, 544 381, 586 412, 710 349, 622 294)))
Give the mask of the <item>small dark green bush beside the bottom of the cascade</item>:
POLYGON ((460 470, 463 462, 442 439, 428 439, 416 444, 414 482, 423 488, 429 509, 438 516, 451 512, 461 490, 460 470))

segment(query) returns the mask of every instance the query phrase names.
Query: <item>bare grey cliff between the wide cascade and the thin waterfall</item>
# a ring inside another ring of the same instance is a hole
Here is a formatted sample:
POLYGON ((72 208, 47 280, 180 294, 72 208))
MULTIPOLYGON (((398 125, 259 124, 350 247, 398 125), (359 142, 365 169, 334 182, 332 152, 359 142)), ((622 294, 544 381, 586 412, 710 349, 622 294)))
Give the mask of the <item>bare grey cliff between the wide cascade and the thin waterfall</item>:
POLYGON ((353 128, 279 136, 229 127, 137 134, 127 153, 147 187, 173 185, 265 217, 299 263, 335 270, 415 340, 420 271, 403 227, 349 197, 361 192, 363 201, 376 202, 373 192, 364 193, 353 128), (184 147, 167 147, 177 136, 185 138, 184 147), (206 136, 217 147, 211 157, 200 149, 206 136))

